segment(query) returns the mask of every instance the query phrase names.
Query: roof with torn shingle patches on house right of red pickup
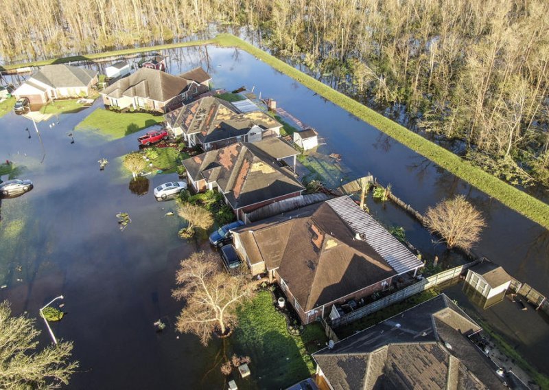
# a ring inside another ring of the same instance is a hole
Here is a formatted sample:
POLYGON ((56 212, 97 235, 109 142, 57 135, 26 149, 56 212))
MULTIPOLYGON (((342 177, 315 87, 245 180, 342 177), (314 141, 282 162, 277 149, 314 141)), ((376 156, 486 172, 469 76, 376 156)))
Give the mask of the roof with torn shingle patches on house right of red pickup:
POLYGON ((237 113, 233 104, 214 96, 187 104, 170 121, 172 128, 181 128, 187 135, 196 134, 202 144, 244 135, 253 126, 261 129, 282 126, 266 113, 237 113))

